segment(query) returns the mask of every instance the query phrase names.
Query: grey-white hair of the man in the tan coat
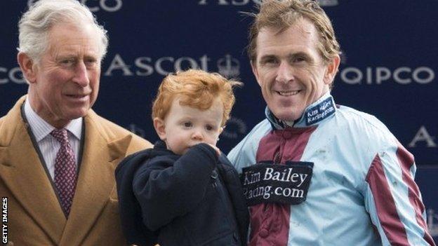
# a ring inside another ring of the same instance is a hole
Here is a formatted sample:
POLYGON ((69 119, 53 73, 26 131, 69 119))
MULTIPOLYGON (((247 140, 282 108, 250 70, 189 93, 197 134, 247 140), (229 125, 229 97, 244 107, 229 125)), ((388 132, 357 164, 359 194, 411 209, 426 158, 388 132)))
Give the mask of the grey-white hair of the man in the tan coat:
POLYGON ((88 8, 77 0, 40 0, 29 7, 18 22, 18 51, 38 63, 48 48, 48 33, 53 25, 67 23, 81 27, 91 24, 100 36, 100 55, 107 53, 107 31, 98 24, 88 8))

